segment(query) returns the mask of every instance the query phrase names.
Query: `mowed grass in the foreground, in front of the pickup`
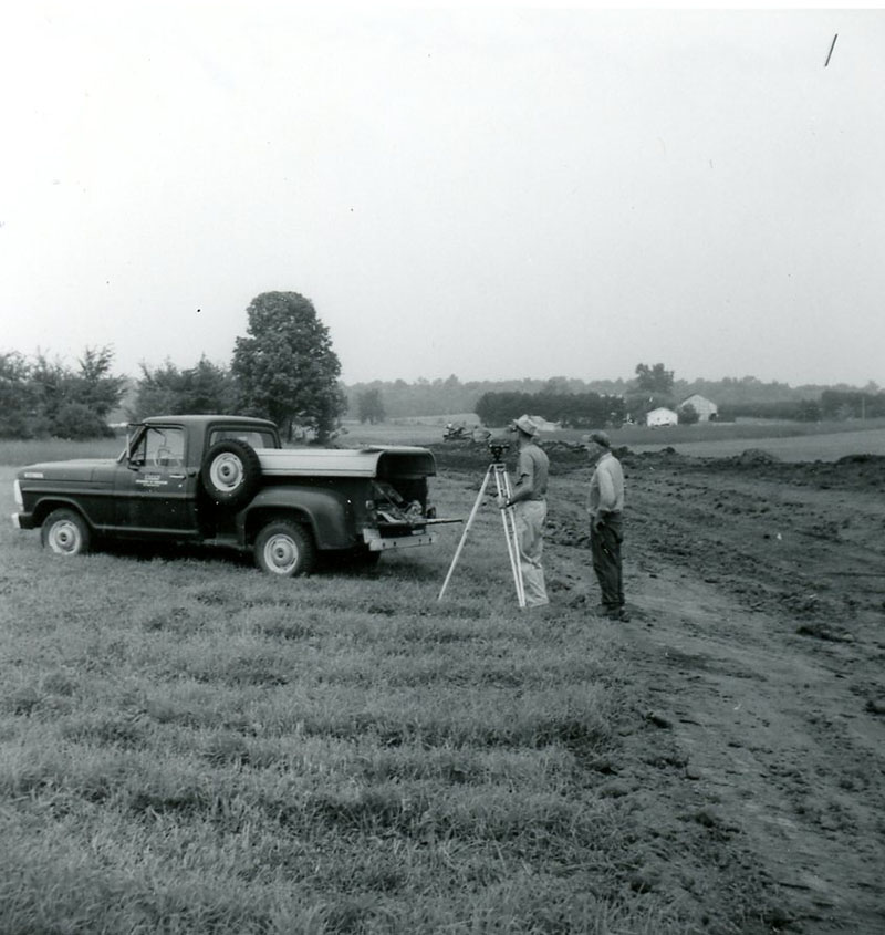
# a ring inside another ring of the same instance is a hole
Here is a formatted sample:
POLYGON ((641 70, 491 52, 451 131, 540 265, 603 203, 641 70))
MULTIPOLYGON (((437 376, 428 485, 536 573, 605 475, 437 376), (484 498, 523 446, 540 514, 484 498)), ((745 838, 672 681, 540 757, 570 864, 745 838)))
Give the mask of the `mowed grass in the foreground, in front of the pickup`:
POLYGON ((3 527, 0 931, 681 931, 587 766, 632 705, 611 637, 519 612, 498 522, 438 602, 459 534, 281 582, 3 527))

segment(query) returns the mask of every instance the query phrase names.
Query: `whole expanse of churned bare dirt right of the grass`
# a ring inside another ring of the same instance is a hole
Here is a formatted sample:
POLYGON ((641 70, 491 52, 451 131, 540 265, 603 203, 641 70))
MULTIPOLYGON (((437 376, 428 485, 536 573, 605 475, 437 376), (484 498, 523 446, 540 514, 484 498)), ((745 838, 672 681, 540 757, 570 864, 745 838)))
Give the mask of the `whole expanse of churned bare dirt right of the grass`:
MULTIPOLYGON (((883 932, 882 476, 673 460, 625 458, 623 647, 691 786, 659 797, 749 849, 771 931, 883 932)), ((555 478, 550 564, 592 606, 587 476, 555 478)))

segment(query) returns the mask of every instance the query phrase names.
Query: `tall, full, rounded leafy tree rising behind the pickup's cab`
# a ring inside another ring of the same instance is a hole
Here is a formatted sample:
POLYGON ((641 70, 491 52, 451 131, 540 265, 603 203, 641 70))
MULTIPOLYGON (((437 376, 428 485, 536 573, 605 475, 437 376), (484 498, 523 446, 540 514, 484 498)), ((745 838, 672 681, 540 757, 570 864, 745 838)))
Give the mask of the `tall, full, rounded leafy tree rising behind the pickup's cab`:
POLYGON ((298 292, 263 292, 247 314, 249 336, 237 339, 231 364, 244 411, 272 419, 290 440, 296 423, 327 440, 346 404, 313 303, 298 292))

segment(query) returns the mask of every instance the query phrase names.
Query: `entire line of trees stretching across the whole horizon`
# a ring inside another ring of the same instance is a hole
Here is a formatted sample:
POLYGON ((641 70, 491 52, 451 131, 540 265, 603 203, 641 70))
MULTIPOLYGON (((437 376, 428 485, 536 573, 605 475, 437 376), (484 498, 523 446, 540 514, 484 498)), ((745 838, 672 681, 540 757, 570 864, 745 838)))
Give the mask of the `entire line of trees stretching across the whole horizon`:
MULTIPOLYGON (((229 364, 205 356, 191 367, 169 361, 140 364, 133 382, 115 375, 111 347, 87 347, 70 367, 44 354, 29 360, 0 352, 0 437, 52 435, 95 437, 111 432, 108 416, 125 398, 125 417, 179 413, 236 412, 270 418, 291 439, 311 434, 327 439, 348 413, 361 422, 473 413, 499 426, 522 413, 574 427, 641 422, 657 406, 676 408, 697 393, 719 406, 720 419, 739 417, 819 419, 885 416, 885 393, 863 389, 790 387, 752 376, 721 381, 676 380, 663 363, 639 363, 634 377, 548 380, 373 381, 345 386, 329 330, 313 303, 296 292, 264 292, 247 309, 247 333, 237 337, 229 364)), ((696 417, 688 407, 680 418, 696 417)))

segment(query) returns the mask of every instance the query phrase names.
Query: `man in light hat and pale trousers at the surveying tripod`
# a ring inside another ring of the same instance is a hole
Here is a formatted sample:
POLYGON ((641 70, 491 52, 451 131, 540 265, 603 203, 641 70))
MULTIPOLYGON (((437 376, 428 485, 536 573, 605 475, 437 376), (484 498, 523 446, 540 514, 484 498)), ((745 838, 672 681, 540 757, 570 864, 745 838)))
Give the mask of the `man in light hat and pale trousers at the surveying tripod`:
POLYGON ((510 430, 517 433, 519 444, 517 480, 510 499, 500 497, 498 506, 501 509, 513 508, 525 606, 541 607, 550 603, 544 584, 544 569, 541 565, 550 461, 537 445, 538 426, 529 416, 520 416, 511 423, 510 430))

